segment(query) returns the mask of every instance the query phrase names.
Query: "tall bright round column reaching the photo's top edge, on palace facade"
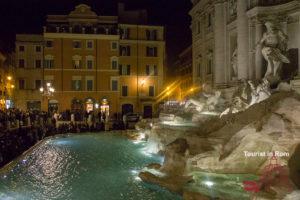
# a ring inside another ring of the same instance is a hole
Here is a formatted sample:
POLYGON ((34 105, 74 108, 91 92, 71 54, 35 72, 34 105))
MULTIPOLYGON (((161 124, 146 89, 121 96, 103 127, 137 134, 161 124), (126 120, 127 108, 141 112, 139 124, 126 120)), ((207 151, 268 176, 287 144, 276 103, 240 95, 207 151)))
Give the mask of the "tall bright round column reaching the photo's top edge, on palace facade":
POLYGON ((248 79, 249 29, 247 1, 237 1, 238 79, 248 79))

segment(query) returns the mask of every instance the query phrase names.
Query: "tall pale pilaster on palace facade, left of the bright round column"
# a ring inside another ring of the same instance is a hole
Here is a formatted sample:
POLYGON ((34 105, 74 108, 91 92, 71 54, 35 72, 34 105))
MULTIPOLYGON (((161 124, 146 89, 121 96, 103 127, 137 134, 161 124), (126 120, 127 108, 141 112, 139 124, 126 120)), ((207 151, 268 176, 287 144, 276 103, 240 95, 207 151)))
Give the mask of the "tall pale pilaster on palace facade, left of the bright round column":
POLYGON ((214 85, 223 85, 225 83, 225 42, 226 29, 224 25, 223 3, 215 4, 215 23, 214 23, 214 36, 215 36, 215 49, 214 49, 214 85))

